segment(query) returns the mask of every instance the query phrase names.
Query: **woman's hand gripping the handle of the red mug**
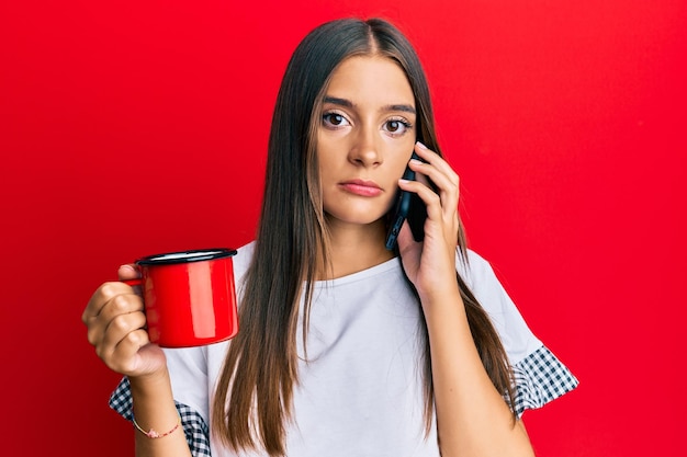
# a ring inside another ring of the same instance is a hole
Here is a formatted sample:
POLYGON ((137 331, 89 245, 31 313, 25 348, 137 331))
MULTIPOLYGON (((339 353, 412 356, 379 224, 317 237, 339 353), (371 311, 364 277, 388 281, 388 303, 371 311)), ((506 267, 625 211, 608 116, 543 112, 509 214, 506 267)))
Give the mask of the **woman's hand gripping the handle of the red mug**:
MULTIPOLYGON (((122 265, 120 281, 140 276, 133 265, 122 265)), ((165 353, 150 343, 139 286, 122 282, 101 285, 83 310, 88 341, 98 356, 114 372, 128 377, 145 377, 166 369, 165 353)))

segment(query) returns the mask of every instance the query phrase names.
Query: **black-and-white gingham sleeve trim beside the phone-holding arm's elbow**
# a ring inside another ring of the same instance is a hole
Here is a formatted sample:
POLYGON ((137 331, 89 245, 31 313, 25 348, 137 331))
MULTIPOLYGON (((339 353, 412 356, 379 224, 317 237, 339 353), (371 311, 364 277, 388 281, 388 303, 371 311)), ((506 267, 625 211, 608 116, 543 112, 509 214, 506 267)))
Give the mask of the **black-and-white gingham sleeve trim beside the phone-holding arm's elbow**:
POLYGON ((513 367, 516 381, 515 410, 541 408, 577 387, 579 381, 549 351, 541 346, 513 367))

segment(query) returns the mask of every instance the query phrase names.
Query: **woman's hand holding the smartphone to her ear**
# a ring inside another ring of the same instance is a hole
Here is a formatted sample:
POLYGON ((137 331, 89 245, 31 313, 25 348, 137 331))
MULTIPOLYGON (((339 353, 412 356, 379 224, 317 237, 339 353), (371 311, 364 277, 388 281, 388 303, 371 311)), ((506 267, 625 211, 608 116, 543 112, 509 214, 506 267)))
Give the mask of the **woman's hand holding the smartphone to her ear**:
POLYGON ((436 152, 417 142, 415 151, 425 161, 410 160, 416 181, 399 180, 403 191, 415 192, 427 205, 425 240, 416 242, 405 222, 398 233, 398 251, 403 267, 424 298, 439 298, 447 292, 455 292, 455 248, 458 245, 459 176, 436 152), (427 179, 437 192, 429 187, 427 179))

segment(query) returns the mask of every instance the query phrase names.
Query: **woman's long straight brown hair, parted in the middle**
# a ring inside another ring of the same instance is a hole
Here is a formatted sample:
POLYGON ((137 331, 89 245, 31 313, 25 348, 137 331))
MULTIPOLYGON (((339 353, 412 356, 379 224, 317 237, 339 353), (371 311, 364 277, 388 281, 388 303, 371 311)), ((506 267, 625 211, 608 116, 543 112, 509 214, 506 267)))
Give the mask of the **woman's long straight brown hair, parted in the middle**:
MULTIPOLYGON (((299 381, 300 302, 301 299, 305 302, 302 327, 305 342, 317 265, 328 263, 329 252, 315 129, 331 72, 346 58, 357 55, 381 55, 399 65, 415 94, 418 136, 441 153, 423 67, 413 46, 396 27, 379 19, 344 19, 318 26, 301 42, 277 98, 262 210, 254 258, 241 290, 241 330, 229 344, 213 404, 214 432, 235 450, 262 447, 270 456, 285 454, 286 422, 292 420, 293 388, 299 381)), ((459 248, 466 259, 462 225, 459 248)), ((494 386, 513 404, 510 367, 498 334, 459 275, 457 281, 485 369, 494 386)), ((433 389, 426 327, 423 330, 428 430, 433 389)))

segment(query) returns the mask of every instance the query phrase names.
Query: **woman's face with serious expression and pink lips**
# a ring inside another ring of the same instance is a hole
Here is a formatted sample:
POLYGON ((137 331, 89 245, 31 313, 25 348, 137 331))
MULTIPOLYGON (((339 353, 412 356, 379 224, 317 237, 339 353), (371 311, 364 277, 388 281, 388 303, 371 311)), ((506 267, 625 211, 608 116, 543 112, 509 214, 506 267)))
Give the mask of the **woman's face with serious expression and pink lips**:
POLYGON ((415 98, 385 57, 350 57, 333 72, 317 129, 330 224, 368 225, 391 208, 416 138, 415 98))

